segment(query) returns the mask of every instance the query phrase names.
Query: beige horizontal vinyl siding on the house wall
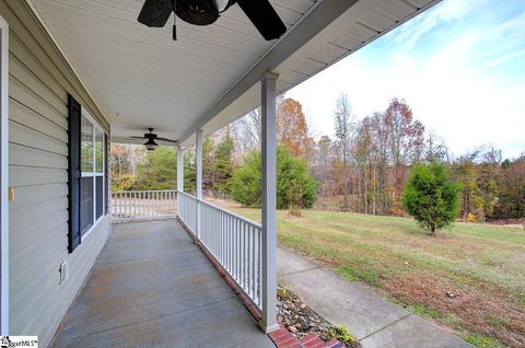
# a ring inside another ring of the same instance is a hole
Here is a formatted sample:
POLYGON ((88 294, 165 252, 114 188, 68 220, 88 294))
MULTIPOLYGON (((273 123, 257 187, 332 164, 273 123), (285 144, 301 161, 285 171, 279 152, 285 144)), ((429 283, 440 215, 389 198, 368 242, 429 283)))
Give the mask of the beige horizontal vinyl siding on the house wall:
POLYGON ((0 3, 11 30, 9 175, 15 199, 10 204, 10 334, 38 335, 46 347, 104 246, 110 222, 106 217, 68 254, 67 96, 78 82, 66 78, 14 8, 22 11, 23 5, 0 3), (69 278, 60 285, 63 260, 69 262, 69 278))

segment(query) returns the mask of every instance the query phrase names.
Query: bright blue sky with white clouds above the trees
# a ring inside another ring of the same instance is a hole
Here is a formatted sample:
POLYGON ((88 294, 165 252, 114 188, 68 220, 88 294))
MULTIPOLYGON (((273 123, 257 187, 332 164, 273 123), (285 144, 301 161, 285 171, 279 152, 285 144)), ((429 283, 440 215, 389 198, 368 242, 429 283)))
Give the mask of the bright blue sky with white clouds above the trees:
POLYGON ((525 152, 525 0, 444 0, 294 88, 316 136, 335 101, 358 118, 405 98, 455 155, 487 144, 525 152), (319 94, 319 91, 323 91, 319 94))

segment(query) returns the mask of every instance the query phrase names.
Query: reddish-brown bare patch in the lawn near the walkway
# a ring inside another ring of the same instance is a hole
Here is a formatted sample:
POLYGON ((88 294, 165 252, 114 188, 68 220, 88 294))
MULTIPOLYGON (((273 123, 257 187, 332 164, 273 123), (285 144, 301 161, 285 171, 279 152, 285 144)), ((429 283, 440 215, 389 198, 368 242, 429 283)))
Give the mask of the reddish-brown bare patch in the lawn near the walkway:
POLYGON ((415 305, 416 312, 457 328, 494 337, 509 347, 525 346, 525 313, 474 289, 457 289, 446 280, 409 274, 383 281, 386 292, 415 305), (457 321, 459 318, 460 321, 457 321))

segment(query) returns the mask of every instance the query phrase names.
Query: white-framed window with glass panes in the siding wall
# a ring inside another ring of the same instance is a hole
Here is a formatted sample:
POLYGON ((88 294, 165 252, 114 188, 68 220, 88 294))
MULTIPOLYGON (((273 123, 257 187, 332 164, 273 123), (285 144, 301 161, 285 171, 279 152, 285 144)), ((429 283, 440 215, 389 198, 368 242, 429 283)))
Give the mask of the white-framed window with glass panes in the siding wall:
POLYGON ((81 113, 80 132, 80 233, 84 237, 105 211, 105 137, 85 111, 81 113))

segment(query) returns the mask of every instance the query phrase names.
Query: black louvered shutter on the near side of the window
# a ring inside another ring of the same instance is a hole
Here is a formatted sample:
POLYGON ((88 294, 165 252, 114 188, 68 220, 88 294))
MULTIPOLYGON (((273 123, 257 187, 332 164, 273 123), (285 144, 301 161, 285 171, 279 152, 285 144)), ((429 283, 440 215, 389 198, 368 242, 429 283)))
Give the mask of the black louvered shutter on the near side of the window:
POLYGON ((81 109, 80 104, 68 94, 68 124, 69 124, 69 253, 79 246, 82 234, 80 231, 80 148, 81 148, 81 109))

